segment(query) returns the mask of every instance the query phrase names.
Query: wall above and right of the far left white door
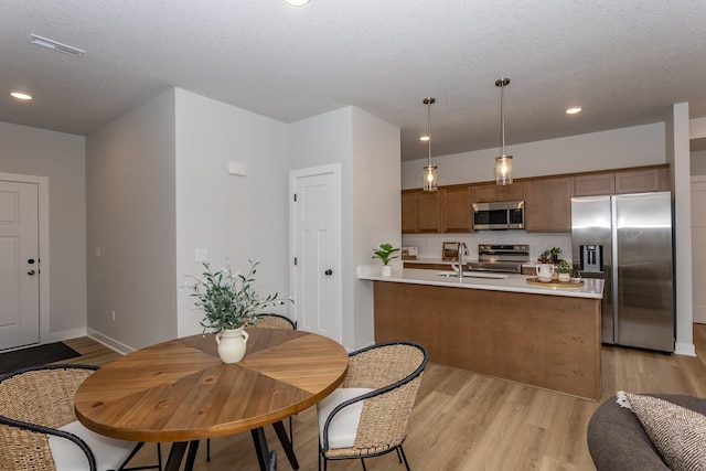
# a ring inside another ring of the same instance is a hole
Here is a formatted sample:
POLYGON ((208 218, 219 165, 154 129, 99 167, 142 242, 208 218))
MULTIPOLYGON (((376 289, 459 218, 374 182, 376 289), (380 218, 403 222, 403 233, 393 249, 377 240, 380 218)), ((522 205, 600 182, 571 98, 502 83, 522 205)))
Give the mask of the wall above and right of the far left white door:
POLYGON ((0 172, 49 179, 50 332, 52 340, 81 336, 86 331, 85 139, 0 122, 0 172))

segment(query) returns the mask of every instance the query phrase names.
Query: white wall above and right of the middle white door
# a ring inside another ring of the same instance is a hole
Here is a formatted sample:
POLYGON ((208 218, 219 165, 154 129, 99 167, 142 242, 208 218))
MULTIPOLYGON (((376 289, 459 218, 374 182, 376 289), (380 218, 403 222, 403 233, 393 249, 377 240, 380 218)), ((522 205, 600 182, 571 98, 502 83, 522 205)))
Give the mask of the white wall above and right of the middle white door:
POLYGON ((373 342, 372 286, 355 278, 373 247, 400 240, 399 129, 355 107, 289 126, 289 169, 341 164, 342 341, 373 342))

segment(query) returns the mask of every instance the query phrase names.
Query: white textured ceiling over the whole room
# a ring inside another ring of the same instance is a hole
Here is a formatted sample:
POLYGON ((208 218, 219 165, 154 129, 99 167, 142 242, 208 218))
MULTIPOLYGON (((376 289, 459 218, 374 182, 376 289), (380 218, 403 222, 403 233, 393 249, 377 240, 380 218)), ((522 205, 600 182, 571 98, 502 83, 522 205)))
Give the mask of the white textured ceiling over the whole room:
POLYGON ((507 146, 675 103, 706 116, 705 19, 704 0, 3 0, 0 121, 88 135, 181 87, 284 122, 354 105, 402 128, 411 160, 434 96, 434 156, 498 148, 503 76, 507 146))

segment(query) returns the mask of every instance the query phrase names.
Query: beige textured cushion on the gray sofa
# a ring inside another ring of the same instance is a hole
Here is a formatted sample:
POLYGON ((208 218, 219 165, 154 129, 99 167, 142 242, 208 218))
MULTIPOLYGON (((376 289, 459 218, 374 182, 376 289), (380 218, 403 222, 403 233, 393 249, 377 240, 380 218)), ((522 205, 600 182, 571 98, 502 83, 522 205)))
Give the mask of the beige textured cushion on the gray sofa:
POLYGON ((706 416, 664 399, 618 393, 673 470, 706 469, 706 416))

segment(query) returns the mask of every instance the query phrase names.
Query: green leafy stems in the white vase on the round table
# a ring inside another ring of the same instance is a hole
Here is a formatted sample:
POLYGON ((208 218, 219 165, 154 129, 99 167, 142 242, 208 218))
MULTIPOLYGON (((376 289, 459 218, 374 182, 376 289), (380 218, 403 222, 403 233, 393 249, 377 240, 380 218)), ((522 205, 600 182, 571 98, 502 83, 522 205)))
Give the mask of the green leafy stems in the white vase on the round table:
MULTIPOLYGON (((263 309, 285 303, 278 299, 277 293, 260 296, 255 292, 253 282, 259 261, 248 261, 250 269, 247 274, 233 271, 229 263, 225 268, 214 272, 206 263, 203 264, 204 272, 201 277, 189 277, 193 282, 186 283, 185 288, 189 288, 191 296, 195 298, 196 309, 204 313, 201 321, 204 332, 253 325, 257 322, 257 313, 263 309)), ((291 299, 287 301, 291 302, 291 299)))

